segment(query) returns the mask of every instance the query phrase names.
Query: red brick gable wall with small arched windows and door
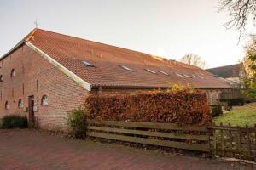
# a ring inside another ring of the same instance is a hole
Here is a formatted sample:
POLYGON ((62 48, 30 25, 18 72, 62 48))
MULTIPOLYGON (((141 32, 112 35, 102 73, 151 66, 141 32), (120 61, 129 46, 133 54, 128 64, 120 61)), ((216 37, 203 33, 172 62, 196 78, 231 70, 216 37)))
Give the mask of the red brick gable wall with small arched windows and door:
POLYGON ((35 105, 38 106, 35 112, 38 126, 58 129, 67 127, 67 111, 84 105, 88 91, 26 45, 1 60, 0 65, 0 75, 3 75, 3 82, 0 82, 0 117, 11 114, 27 116, 28 96, 34 95, 35 105), (10 77, 13 68, 16 76, 10 77), (49 98, 48 106, 41 105, 43 95, 49 98), (21 109, 18 108, 19 99, 23 99, 24 103, 21 109), (5 101, 9 102, 9 110, 5 110, 5 101))

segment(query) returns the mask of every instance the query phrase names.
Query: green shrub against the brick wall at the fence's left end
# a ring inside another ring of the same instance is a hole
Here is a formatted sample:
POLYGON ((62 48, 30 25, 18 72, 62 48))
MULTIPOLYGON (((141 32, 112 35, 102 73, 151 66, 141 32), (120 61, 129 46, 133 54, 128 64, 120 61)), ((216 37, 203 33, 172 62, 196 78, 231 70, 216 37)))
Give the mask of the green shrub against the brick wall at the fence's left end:
POLYGON ((67 125, 71 127, 70 135, 75 138, 86 136, 86 116, 81 108, 73 109, 67 113, 67 125))

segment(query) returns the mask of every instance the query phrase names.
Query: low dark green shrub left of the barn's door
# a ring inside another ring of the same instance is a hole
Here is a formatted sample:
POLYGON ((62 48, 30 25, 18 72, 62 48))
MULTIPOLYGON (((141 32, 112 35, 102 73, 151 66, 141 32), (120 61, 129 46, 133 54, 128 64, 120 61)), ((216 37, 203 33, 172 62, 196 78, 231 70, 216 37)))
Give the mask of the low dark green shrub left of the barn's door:
POLYGON ((10 115, 2 119, 2 128, 26 128, 26 116, 10 115))

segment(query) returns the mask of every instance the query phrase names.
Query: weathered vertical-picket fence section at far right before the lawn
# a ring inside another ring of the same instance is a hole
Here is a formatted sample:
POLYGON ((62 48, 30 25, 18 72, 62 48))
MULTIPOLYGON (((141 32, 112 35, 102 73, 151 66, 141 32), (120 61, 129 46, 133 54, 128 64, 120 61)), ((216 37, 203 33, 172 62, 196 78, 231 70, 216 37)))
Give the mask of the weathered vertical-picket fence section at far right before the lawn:
POLYGON ((256 161, 256 125, 254 127, 213 126, 212 155, 256 161))

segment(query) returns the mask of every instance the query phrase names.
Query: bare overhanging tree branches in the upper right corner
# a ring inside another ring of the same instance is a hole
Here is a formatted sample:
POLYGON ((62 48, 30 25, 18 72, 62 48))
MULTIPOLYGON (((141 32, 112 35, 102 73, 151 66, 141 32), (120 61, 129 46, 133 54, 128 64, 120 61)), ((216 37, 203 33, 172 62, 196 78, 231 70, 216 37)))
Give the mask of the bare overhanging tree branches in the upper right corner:
POLYGON ((235 27, 240 32, 240 41, 247 21, 256 19, 256 0, 219 0, 219 11, 229 13, 230 20, 224 26, 226 28, 235 27))

